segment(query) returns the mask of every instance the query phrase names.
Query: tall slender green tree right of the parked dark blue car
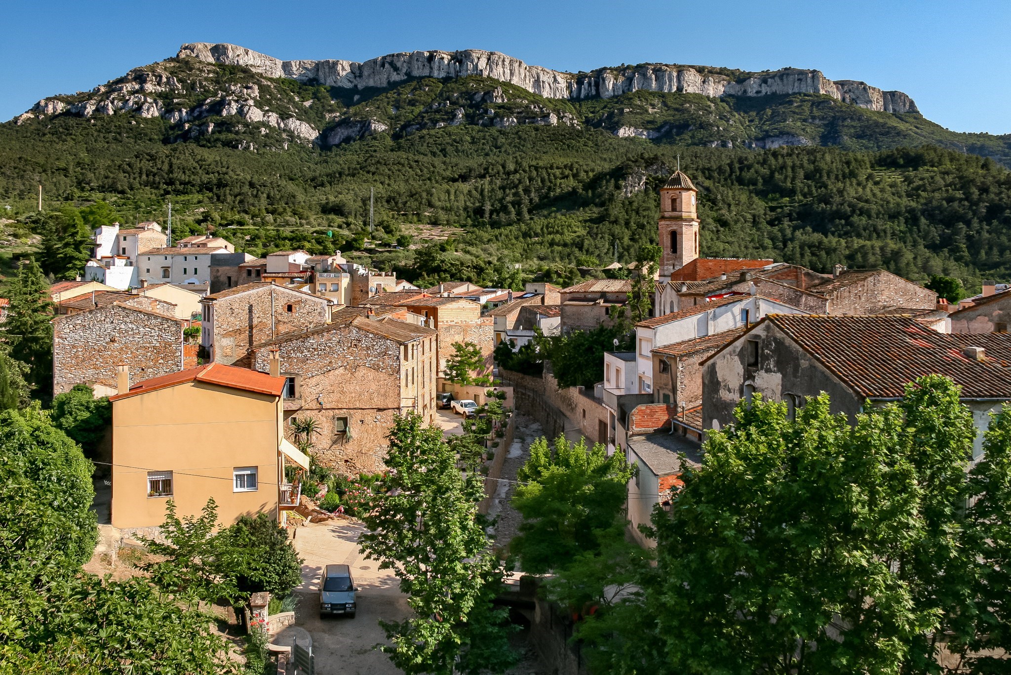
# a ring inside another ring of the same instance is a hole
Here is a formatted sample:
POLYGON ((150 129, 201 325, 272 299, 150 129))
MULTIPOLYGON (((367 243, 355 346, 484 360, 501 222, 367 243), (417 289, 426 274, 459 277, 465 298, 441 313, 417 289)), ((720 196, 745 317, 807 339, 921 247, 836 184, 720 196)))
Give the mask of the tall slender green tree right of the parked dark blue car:
POLYGON ((384 491, 363 515, 362 551, 392 570, 413 615, 381 622, 383 647, 405 673, 502 672, 513 662, 505 617, 491 599, 502 568, 477 510, 484 498, 476 467, 457 467, 457 454, 421 416, 397 417, 385 459, 384 491))

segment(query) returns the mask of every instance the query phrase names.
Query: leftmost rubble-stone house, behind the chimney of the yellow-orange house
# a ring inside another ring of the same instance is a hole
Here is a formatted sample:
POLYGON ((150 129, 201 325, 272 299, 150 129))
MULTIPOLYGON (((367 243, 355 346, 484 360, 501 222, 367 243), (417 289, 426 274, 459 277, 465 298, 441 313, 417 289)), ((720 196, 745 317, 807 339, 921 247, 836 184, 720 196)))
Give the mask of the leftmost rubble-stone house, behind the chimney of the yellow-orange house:
MULTIPOLYGON (((137 302, 158 303, 135 298, 137 302)), ((96 397, 114 394, 117 367, 129 367, 130 382, 182 370, 184 322, 123 303, 54 317, 53 392, 89 385, 96 397)), ((193 363, 195 365, 195 362, 193 363)))

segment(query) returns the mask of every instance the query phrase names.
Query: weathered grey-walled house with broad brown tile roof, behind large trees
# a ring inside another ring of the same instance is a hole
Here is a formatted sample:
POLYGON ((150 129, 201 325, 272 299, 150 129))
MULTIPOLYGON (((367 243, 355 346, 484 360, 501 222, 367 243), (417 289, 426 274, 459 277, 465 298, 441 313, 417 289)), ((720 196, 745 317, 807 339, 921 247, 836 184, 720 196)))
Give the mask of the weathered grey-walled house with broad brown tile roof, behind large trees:
POLYGON ((703 426, 730 424, 737 403, 755 393, 785 401, 793 415, 806 397, 825 392, 832 412, 852 419, 938 373, 962 388, 981 432, 978 457, 990 414, 1011 401, 1011 372, 963 341, 911 317, 769 315, 703 361, 703 426))

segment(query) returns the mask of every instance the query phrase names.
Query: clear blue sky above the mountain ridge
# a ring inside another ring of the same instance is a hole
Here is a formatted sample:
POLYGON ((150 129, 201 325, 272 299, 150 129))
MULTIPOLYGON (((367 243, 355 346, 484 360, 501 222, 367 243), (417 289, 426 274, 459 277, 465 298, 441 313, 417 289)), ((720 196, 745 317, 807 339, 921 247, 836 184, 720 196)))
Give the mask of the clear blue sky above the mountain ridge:
POLYGON ((182 43, 279 59, 364 61, 484 49, 558 70, 680 63, 817 68, 911 95, 958 132, 1011 133, 1011 2, 105 2, 3 3, 0 119, 87 90, 182 43))

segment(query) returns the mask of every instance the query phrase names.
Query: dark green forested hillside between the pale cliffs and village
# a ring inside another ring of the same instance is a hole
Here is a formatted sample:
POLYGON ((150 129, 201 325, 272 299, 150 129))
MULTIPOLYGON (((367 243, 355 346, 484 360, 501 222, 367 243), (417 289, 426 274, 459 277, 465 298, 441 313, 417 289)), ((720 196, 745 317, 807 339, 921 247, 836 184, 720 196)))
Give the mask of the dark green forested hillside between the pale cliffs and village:
POLYGON ((178 115, 37 114, 0 124, 7 218, 42 227, 31 222, 40 183, 47 208, 105 199, 123 222, 164 222, 171 198, 177 232, 214 229, 256 255, 340 249, 407 278, 504 284, 544 272, 567 281, 575 264, 611 262, 616 245, 629 262, 655 243, 657 189, 679 156, 700 188, 704 255, 819 270, 884 266, 914 279, 942 273, 970 287, 1011 275, 1006 140, 977 139, 976 150, 997 161, 940 149, 959 137, 973 150, 969 135, 945 136, 913 113, 807 94, 717 100, 638 91, 569 102, 476 77, 339 100, 324 87, 238 67, 176 67, 205 77, 187 85, 185 105, 255 85, 265 110, 330 123, 331 140, 334 130, 351 132, 333 147, 308 145, 285 136, 290 124, 215 116, 232 110, 211 104, 200 133, 178 115), (206 80, 208 69, 217 80, 206 80), (516 123, 496 125, 507 118, 516 123), (621 138, 621 129, 655 134, 621 138), (775 137, 830 147, 743 147, 775 137), (424 239, 447 232, 450 241, 424 239))

